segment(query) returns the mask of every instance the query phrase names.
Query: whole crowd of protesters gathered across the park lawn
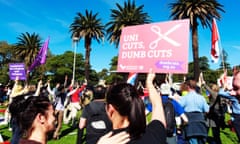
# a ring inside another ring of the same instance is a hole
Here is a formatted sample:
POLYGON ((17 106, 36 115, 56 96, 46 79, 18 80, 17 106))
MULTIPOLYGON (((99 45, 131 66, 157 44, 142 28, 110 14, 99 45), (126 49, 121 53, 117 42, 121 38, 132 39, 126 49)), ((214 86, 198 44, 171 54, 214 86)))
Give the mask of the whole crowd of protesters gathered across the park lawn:
POLYGON ((58 140, 63 123, 78 128, 77 142, 72 143, 204 144, 211 128, 213 143, 221 144, 220 130, 226 127, 224 115, 231 109, 232 125, 240 142, 240 73, 234 72, 231 86, 224 82, 222 85, 207 84, 203 77, 200 74, 198 82, 185 79, 176 86, 170 77, 168 81, 156 83, 155 74, 149 72, 145 88, 127 83, 89 86, 87 81, 81 84, 72 81, 68 85, 67 76, 64 83, 55 83, 54 88, 50 80, 46 84, 39 80, 35 88, 22 86, 16 79, 12 86, 0 85, 0 102, 8 102, 0 125, 9 125, 12 144, 45 144, 49 137, 58 140), (139 88, 147 94, 141 94, 139 88), (203 96, 204 90, 209 92, 208 99, 203 96), (172 136, 166 134, 163 108, 168 98, 174 101, 177 120, 172 136), (77 119, 79 111, 82 114, 77 119), (87 125, 92 113, 102 111, 108 124, 102 127, 98 121, 95 125, 107 130, 89 135, 87 125), (146 111, 151 113, 151 121, 146 121, 146 111), (87 139, 83 140, 85 133, 87 139))

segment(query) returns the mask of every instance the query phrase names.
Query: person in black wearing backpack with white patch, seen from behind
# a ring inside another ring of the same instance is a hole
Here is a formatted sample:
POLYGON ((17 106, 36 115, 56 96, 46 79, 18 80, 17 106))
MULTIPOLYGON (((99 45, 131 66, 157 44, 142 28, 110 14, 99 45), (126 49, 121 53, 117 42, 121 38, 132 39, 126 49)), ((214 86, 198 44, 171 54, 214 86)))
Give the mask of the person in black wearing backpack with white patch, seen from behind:
MULTIPOLYGON (((89 94, 83 93, 83 95, 89 94)), ((98 85, 93 89, 94 100, 83 108, 79 121, 77 144, 84 141, 83 130, 86 128, 86 143, 95 144, 104 134, 112 130, 111 121, 105 110, 106 88, 98 85)))

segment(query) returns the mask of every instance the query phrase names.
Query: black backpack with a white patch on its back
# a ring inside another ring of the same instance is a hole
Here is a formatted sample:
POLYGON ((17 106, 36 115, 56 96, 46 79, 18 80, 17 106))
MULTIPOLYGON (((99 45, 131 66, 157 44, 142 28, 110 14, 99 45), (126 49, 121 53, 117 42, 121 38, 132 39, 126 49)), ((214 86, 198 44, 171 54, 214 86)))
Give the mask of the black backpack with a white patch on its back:
POLYGON ((86 125, 86 141, 87 143, 96 143, 101 136, 112 129, 112 124, 104 106, 98 112, 95 112, 90 104, 85 108, 87 108, 87 112, 89 113, 86 125))

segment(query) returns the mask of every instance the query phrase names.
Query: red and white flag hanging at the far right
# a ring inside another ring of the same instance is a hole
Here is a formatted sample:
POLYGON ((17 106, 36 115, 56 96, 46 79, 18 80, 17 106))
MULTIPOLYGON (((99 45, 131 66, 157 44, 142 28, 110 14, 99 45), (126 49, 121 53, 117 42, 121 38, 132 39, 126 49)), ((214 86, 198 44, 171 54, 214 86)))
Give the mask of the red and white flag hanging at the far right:
POLYGON ((219 52, 219 33, 216 24, 216 20, 213 18, 212 21, 212 48, 211 48, 211 58, 213 63, 217 63, 220 56, 219 52))

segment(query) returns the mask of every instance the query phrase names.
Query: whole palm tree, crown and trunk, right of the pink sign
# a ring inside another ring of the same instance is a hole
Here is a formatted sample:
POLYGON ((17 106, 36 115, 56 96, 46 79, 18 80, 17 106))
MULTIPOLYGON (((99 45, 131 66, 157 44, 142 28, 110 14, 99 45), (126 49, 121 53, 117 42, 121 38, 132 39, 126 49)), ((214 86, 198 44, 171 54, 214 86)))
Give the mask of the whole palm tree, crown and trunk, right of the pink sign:
POLYGON ((192 32, 192 52, 194 62, 194 79, 198 80, 200 69, 198 60, 198 25, 201 23, 203 28, 210 27, 212 19, 220 19, 218 11, 224 12, 223 5, 216 0, 178 0, 170 3, 171 17, 176 19, 190 20, 192 32))

